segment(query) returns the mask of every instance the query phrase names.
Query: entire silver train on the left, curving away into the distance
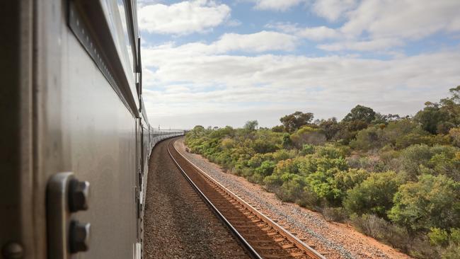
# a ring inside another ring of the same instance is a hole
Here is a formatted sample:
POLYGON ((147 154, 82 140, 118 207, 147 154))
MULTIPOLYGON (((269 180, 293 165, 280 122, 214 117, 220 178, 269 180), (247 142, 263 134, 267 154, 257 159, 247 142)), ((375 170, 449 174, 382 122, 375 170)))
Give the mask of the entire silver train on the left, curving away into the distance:
POLYGON ((142 258, 150 152, 183 132, 149 125, 136 10, 1 1, 1 258, 142 258))

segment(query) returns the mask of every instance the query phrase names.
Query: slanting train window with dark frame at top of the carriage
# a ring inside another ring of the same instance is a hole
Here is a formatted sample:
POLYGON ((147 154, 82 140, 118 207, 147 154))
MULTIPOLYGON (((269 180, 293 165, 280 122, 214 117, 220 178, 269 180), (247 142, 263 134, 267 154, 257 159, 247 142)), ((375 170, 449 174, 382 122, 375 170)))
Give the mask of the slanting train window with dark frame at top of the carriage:
POLYGON ((125 10, 129 13, 125 17, 120 15, 118 0, 71 0, 67 5, 67 23, 132 115, 139 117, 140 102, 136 86, 140 58, 137 55, 139 45, 135 38, 137 25, 134 20, 128 21, 134 17, 132 10, 135 3, 131 0, 121 1, 126 4, 125 10), (112 11, 108 11, 109 8, 112 11), (125 38, 124 33, 120 34, 121 19, 126 21, 128 38, 125 38), (129 49, 125 40, 131 42, 131 62, 127 60, 130 55, 127 54, 129 49))

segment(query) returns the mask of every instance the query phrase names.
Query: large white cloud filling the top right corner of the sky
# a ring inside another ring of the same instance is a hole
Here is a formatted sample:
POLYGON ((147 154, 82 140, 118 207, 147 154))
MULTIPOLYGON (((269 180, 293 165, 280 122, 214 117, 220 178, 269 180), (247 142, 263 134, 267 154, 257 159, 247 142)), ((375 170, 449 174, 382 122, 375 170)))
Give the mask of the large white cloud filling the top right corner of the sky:
POLYGON ((372 38, 420 39, 460 30, 460 1, 368 0, 348 14, 343 33, 372 38))

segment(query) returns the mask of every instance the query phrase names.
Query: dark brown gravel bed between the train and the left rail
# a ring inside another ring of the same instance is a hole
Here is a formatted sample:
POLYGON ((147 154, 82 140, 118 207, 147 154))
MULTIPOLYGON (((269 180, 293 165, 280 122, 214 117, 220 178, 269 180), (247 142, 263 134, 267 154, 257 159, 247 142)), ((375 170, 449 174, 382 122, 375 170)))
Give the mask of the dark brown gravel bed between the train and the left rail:
POLYGON ((248 258, 159 143, 149 161, 144 258, 248 258))

